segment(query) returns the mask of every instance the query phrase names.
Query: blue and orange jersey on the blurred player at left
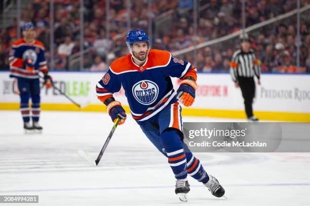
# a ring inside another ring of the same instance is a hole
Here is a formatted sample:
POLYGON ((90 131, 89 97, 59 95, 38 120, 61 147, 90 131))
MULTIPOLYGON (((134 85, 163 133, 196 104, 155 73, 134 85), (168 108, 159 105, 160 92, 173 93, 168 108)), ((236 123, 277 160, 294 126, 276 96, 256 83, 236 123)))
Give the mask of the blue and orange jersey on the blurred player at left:
POLYGON ((39 71, 48 71, 43 43, 34 40, 33 43, 29 44, 23 38, 15 41, 10 51, 9 64, 10 77, 38 78, 39 71), (34 66, 33 70, 27 70, 25 67, 24 61, 28 59, 34 66))

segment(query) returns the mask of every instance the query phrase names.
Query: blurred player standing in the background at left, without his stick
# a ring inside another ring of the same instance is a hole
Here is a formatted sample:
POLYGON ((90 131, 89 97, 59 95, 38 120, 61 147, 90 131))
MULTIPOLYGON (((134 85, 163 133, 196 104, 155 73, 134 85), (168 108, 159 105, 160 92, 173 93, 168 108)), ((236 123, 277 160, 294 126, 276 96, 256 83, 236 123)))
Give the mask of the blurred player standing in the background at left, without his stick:
POLYGON ((40 118, 40 81, 39 72, 43 72, 44 84, 52 86, 52 78, 48 75, 45 60, 45 48, 42 42, 35 40, 34 25, 27 22, 23 26, 23 38, 12 45, 10 52, 10 77, 15 78, 20 95, 20 111, 25 131, 42 130, 38 124, 40 118), (31 97, 31 119, 29 98, 31 97))

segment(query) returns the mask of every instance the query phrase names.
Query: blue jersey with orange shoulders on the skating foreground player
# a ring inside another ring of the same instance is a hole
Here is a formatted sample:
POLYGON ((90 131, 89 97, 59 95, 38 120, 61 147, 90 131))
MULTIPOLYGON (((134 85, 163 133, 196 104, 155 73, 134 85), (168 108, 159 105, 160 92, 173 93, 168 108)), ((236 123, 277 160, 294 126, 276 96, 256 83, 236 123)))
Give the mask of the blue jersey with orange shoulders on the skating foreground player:
POLYGON ((131 55, 115 60, 97 83, 96 92, 104 102, 123 86, 132 117, 142 124, 177 101, 171 77, 192 76, 196 80, 196 73, 190 63, 173 58, 169 52, 150 49, 141 66, 131 55))

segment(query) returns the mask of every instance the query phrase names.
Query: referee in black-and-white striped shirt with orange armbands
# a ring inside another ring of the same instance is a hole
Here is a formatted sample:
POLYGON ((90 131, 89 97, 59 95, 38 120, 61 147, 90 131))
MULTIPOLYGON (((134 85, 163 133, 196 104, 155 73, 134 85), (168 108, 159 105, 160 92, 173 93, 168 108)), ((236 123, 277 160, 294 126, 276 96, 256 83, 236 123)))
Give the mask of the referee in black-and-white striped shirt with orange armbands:
POLYGON ((252 103, 255 96, 254 74, 260 85, 260 64, 251 49, 247 34, 240 36, 241 49, 236 50, 230 62, 230 74, 236 88, 240 87, 244 98, 245 111, 249 121, 258 121, 253 115, 252 103))

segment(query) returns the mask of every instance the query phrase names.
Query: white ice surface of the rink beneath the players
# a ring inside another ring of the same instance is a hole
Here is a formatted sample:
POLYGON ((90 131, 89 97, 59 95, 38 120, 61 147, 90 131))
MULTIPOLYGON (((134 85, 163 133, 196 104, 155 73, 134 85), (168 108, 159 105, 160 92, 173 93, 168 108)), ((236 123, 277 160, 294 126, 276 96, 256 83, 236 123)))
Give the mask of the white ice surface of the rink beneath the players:
POLYGON ((131 117, 117 128, 97 167, 77 150, 97 157, 112 127, 106 113, 43 111, 41 124, 42 134, 26 135, 18 111, 0 111, 0 195, 39 195, 38 204, 26 205, 53 206, 310 205, 309 153, 195 153, 228 200, 188 177, 188 202, 180 202, 166 158, 131 117))

